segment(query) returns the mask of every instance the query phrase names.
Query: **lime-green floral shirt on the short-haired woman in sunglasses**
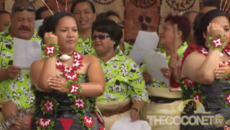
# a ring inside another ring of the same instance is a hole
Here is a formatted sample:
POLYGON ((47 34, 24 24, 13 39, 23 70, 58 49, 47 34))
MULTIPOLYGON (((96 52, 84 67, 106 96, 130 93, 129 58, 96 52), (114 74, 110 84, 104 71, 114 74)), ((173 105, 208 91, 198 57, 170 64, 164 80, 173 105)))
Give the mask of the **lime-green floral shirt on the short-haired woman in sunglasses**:
POLYGON ((141 71, 135 61, 121 51, 104 63, 98 58, 105 75, 105 91, 97 98, 100 102, 132 100, 148 101, 141 71))

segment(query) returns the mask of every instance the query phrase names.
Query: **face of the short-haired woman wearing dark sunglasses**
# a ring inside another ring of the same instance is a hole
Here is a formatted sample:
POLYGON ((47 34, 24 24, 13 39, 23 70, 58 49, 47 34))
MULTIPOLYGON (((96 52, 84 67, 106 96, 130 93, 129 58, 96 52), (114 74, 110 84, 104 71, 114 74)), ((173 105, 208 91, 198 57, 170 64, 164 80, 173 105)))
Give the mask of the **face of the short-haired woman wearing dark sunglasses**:
POLYGON ((98 32, 94 30, 92 39, 92 45, 97 54, 104 54, 106 52, 113 50, 114 48, 113 46, 115 42, 110 39, 108 33, 98 32))

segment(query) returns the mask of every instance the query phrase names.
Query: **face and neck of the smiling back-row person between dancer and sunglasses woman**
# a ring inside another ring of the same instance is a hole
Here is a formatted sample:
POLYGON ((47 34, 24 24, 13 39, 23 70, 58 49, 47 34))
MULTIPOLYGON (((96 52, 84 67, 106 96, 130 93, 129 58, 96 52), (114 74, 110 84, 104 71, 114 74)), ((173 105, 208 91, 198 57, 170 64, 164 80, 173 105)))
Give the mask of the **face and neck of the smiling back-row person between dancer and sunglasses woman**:
POLYGON ((73 15, 77 20, 79 35, 83 40, 91 36, 93 22, 96 20, 96 13, 93 13, 88 2, 81 2, 74 8, 73 15))

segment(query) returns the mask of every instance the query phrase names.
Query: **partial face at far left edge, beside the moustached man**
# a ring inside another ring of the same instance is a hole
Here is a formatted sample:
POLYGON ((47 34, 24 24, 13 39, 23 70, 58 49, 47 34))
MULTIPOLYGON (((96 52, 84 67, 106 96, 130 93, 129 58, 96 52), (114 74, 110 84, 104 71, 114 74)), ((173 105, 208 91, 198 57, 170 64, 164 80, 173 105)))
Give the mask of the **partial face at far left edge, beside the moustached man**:
POLYGON ((10 26, 10 14, 0 15, 0 32, 3 32, 10 26))

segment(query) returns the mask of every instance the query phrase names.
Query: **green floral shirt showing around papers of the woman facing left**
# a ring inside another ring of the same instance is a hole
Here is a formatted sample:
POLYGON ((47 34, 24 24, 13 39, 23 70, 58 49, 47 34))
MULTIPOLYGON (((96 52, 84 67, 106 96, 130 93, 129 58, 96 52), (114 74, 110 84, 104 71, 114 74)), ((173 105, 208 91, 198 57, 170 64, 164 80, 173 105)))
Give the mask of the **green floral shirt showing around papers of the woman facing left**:
MULTIPOLYGON (((183 45, 177 50, 177 53, 181 58, 183 58, 183 53, 186 50, 187 46, 188 46, 187 43, 184 42, 183 45)), ((157 49, 155 49, 155 51, 160 52, 160 53, 164 53, 164 54, 166 53, 164 48, 157 48, 157 49)), ((168 62, 169 62, 170 58, 171 58, 170 55, 166 56, 167 65, 168 65, 168 62)), ((140 64, 140 68, 141 68, 141 72, 144 72, 144 71, 147 70, 145 61, 143 61, 140 64)), ((169 87, 169 85, 165 84, 164 82, 161 82, 161 81, 158 81, 158 80, 155 80, 155 79, 153 79, 153 81, 151 83, 148 83, 147 85, 152 86, 152 87, 160 87, 160 88, 169 87)))

